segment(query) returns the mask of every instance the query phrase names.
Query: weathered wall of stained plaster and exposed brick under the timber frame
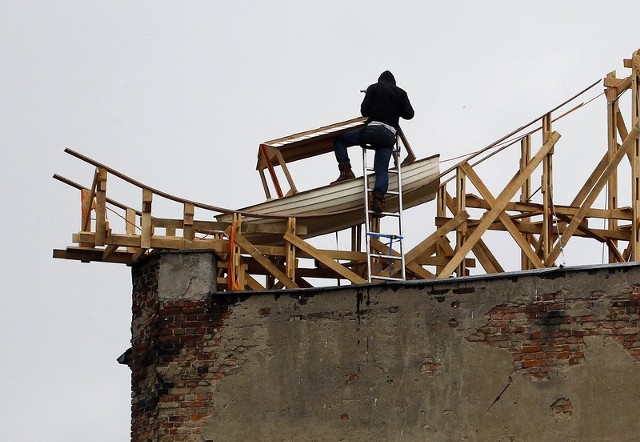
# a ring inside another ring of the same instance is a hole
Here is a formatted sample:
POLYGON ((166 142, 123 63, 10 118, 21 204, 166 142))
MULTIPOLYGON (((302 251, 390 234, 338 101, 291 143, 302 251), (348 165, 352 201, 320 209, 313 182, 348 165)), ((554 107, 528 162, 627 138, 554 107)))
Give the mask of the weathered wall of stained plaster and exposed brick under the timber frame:
POLYGON ((640 438, 639 266, 228 296, 180 256, 133 269, 133 440, 640 438))

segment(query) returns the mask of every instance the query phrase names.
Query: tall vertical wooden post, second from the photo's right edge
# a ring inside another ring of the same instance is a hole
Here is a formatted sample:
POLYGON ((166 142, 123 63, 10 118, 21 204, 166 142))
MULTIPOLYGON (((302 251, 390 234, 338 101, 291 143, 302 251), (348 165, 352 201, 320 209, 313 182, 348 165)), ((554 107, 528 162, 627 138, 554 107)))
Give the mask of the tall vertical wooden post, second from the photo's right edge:
MULTIPOLYGON (((607 78, 615 78, 616 72, 609 72, 607 78)), ((606 89, 607 97, 607 151, 609 161, 614 157, 618 151, 618 119, 619 112, 618 105, 618 93, 615 87, 608 87, 606 89)), ((607 182, 607 209, 614 210, 618 208, 618 169, 611 172, 611 177, 607 182)), ((618 220, 615 218, 609 218, 607 220, 607 229, 610 231, 618 230, 618 220)), ((611 240, 612 244, 617 247, 618 241, 611 240)), ((611 248, 609 249, 609 262, 616 262, 616 255, 611 248)))

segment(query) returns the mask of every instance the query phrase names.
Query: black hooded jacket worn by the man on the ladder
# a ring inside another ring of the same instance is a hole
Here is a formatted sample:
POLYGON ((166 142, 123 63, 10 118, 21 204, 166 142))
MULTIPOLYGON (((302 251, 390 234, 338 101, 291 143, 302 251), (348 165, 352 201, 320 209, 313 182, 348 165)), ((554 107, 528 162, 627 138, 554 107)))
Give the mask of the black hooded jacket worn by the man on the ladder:
POLYGON ((396 86, 396 79, 389 71, 380 74, 378 82, 367 88, 360 112, 367 122, 379 121, 398 128, 400 117, 413 118, 413 107, 407 93, 396 86))

